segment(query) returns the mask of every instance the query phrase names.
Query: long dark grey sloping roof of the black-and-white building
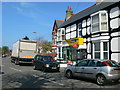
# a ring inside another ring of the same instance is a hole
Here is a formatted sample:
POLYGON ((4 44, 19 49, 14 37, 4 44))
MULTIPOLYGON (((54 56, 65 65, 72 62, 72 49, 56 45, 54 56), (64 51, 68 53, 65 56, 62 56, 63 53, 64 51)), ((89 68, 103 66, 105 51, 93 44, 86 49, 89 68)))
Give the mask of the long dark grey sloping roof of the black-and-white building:
POLYGON ((87 9, 77 13, 76 15, 73 15, 70 19, 68 19, 67 21, 65 21, 60 28, 68 26, 69 24, 74 23, 77 20, 80 20, 88 15, 91 15, 99 10, 102 10, 110 5, 113 5, 117 2, 102 2, 100 4, 94 4, 91 7, 88 7, 87 9))

